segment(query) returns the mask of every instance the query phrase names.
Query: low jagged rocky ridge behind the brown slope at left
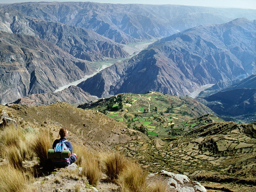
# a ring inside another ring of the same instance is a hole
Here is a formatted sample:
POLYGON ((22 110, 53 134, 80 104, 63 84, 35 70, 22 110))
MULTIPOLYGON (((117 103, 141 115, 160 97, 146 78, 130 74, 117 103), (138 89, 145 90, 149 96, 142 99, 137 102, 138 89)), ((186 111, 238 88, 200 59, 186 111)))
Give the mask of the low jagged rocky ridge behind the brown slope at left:
POLYGON ((7 104, 20 104, 27 106, 46 106, 56 103, 56 101, 63 101, 69 104, 78 105, 84 102, 90 102, 95 100, 95 97, 91 96, 89 93, 82 91, 81 88, 77 86, 69 86, 63 91, 56 93, 41 93, 41 94, 32 94, 29 97, 22 97, 16 101, 7 104))

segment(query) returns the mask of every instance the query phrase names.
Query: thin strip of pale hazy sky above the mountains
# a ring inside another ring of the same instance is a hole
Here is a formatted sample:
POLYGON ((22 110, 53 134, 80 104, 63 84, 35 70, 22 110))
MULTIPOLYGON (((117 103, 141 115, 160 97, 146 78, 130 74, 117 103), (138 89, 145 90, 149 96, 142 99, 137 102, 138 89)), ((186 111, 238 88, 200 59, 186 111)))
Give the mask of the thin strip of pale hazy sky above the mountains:
MULTIPOLYGON (((16 2, 39 2, 39 0, 0 0, 0 3, 16 3, 16 2)), ((40 0, 54 1, 54 0, 40 0)), ((88 0, 55 0, 55 1, 79 1, 87 2, 88 0)), ((121 4, 182 4, 192 6, 212 6, 212 7, 232 7, 243 9, 256 9, 256 0, 89 0, 99 3, 121 3, 121 4)))

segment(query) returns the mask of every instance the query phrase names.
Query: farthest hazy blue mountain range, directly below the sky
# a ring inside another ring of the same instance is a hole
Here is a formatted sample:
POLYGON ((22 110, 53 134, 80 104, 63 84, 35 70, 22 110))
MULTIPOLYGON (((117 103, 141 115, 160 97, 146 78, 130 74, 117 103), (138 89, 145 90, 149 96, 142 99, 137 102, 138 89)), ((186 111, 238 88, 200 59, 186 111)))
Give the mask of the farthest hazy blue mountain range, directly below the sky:
POLYGON ((118 43, 167 37, 187 28, 255 19, 255 10, 180 5, 100 4, 93 2, 27 2, 4 6, 41 20, 88 28, 118 43))

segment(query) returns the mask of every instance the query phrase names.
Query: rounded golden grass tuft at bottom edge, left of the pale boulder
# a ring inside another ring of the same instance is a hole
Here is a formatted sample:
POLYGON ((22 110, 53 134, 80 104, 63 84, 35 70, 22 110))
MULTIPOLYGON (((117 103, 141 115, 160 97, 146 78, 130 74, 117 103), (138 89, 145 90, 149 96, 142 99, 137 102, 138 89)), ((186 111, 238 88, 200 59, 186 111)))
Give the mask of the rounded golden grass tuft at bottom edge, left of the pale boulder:
POLYGON ((145 192, 147 175, 138 164, 130 162, 118 178, 121 192, 145 192))

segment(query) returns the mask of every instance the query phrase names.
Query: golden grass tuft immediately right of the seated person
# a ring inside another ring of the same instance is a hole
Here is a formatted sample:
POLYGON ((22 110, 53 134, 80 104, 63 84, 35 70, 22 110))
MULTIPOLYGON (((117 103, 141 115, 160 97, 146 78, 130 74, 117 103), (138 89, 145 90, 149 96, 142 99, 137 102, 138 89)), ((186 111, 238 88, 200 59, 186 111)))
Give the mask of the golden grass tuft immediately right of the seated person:
POLYGON ((98 154, 78 145, 74 145, 74 152, 78 156, 76 164, 82 167, 82 177, 86 177, 90 185, 97 186, 102 178, 102 167, 98 154))

